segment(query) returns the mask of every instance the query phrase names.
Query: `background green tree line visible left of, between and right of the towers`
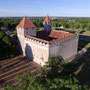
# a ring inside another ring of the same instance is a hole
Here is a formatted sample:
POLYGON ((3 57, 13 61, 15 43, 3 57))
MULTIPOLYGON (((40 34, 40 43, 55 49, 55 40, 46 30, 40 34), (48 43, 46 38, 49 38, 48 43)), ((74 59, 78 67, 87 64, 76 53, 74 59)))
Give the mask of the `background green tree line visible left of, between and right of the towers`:
MULTIPOLYGON (((22 18, 17 19, 0 19, 0 27, 5 26, 10 30, 15 30, 22 18)), ((44 17, 30 18, 30 20, 38 27, 43 27, 44 17)), ((63 26, 64 28, 86 29, 90 30, 90 18, 57 18, 52 20, 53 27, 63 26)))

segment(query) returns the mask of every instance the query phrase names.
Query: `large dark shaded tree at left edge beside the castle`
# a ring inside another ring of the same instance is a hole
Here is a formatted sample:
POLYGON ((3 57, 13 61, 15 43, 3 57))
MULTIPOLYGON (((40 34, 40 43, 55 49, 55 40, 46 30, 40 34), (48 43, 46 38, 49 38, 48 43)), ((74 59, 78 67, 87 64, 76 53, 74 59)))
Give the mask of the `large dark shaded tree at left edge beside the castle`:
POLYGON ((0 59, 15 56, 17 54, 17 45, 6 35, 5 32, 0 31, 0 59))

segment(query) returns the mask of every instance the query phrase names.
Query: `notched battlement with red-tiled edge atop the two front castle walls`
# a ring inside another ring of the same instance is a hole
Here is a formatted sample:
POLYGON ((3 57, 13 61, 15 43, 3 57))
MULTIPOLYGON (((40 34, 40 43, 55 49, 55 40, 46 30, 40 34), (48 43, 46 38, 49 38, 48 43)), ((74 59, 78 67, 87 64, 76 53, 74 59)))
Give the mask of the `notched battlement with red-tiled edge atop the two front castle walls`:
POLYGON ((73 40, 75 38, 78 38, 78 35, 74 35, 73 37, 69 37, 69 38, 66 38, 66 39, 55 39, 55 40, 51 40, 51 41, 46 41, 46 40, 42 40, 40 38, 37 38, 37 37, 32 37, 32 36, 26 36, 25 37, 26 40, 29 40, 31 42, 34 42, 34 43, 37 43, 39 45, 42 45, 42 46, 57 46, 57 45, 60 45, 62 43, 65 43, 65 42, 68 42, 70 40, 73 40))

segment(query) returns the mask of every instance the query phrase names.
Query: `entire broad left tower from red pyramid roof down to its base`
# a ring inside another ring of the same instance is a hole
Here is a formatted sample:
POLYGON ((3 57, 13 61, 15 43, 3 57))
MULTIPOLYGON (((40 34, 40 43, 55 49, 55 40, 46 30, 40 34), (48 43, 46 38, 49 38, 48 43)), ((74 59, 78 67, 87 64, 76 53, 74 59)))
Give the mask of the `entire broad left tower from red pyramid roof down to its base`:
POLYGON ((27 18, 24 17, 17 25, 17 37, 20 52, 25 55, 25 37, 27 35, 36 37, 36 26, 27 18))

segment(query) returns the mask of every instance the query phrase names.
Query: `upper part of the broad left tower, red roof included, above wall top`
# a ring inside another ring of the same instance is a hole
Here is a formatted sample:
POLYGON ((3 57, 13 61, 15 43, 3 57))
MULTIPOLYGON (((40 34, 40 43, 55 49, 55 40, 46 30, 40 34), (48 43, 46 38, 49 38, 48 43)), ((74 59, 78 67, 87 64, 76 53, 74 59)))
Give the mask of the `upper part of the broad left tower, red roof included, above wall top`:
POLYGON ((23 36, 36 36, 36 26, 27 18, 24 17, 17 26, 17 34, 23 36))

